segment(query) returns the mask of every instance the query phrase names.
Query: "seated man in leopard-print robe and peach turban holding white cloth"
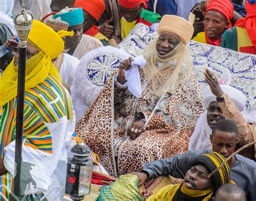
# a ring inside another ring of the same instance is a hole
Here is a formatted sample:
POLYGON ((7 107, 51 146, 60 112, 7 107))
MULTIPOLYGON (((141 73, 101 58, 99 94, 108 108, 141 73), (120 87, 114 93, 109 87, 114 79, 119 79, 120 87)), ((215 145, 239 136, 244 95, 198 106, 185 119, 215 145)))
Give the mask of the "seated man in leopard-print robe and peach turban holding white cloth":
POLYGON ((139 171, 144 163, 186 150, 202 111, 187 51, 193 26, 181 17, 165 15, 158 34, 144 49, 145 66, 137 71, 136 87, 141 91, 131 92, 128 86, 134 82, 125 78, 134 60, 123 60, 76 125, 76 134, 100 161, 106 161, 104 168, 111 176, 139 171))

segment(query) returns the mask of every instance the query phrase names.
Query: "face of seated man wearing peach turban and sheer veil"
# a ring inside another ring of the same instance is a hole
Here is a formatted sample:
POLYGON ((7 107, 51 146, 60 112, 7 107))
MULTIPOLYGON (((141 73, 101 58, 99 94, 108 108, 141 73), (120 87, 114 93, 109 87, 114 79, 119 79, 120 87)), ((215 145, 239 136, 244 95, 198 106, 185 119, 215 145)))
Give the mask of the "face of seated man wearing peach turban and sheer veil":
POLYGON ((161 33, 157 40, 157 52, 159 55, 166 55, 173 51, 177 45, 179 45, 180 40, 178 40, 174 35, 169 33, 161 33))

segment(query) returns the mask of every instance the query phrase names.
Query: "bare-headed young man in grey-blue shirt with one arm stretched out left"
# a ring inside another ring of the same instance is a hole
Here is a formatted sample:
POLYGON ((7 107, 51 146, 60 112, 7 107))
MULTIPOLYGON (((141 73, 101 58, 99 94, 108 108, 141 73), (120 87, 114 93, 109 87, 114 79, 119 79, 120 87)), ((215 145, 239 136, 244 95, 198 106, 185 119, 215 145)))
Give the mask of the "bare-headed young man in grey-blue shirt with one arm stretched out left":
MULTIPOLYGON (((237 125, 231 120, 221 119, 214 125, 211 135, 212 149, 189 150, 169 159, 162 159, 144 164, 143 170, 136 174, 139 178, 139 186, 149 178, 171 175, 176 178, 184 178, 189 161, 199 154, 211 151, 223 155, 225 158, 235 151, 238 140, 237 125)), ((244 156, 236 154, 228 161, 231 171, 231 180, 238 184, 246 193, 247 200, 256 199, 256 163, 244 156)))

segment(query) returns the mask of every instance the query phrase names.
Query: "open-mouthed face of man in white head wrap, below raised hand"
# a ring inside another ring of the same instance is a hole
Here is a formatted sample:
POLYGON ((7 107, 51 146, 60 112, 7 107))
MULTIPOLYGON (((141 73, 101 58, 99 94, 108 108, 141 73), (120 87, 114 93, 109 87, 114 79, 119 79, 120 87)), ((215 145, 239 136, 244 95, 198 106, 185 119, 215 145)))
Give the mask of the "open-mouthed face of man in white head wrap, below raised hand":
POLYGON ((208 105, 206 118, 207 124, 210 126, 210 128, 213 128, 218 120, 225 119, 225 116, 221 111, 221 108, 217 101, 213 101, 208 105))

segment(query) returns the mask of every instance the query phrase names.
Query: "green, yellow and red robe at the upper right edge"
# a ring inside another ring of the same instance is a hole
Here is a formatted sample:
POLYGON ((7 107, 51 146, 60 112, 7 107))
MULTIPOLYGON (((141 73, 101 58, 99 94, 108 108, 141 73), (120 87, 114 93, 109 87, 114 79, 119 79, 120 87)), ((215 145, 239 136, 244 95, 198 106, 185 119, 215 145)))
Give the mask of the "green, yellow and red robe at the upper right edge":
POLYGON ((225 31, 222 35, 220 46, 238 52, 256 54, 256 47, 253 46, 246 29, 239 26, 225 31))

